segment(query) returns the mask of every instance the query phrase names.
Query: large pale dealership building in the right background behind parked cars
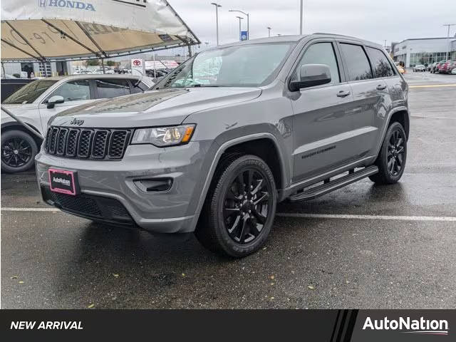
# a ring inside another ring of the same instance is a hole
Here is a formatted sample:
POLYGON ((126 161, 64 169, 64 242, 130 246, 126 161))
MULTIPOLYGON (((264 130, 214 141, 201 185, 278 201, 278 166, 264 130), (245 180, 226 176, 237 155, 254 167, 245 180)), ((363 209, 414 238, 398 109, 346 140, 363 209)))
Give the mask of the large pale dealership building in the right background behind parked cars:
POLYGON ((406 68, 416 64, 432 64, 456 58, 456 37, 443 38, 412 38, 400 43, 392 43, 391 51, 394 61, 405 63, 406 68))

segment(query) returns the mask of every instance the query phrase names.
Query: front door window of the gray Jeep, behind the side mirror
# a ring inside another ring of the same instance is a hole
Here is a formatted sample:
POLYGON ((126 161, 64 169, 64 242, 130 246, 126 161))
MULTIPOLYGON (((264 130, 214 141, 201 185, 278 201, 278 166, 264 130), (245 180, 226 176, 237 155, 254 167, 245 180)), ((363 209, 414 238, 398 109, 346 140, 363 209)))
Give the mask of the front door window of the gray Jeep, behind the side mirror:
POLYGON ((298 79, 299 71, 301 66, 306 64, 326 64, 331 70, 331 81, 332 83, 340 83, 341 77, 339 76, 339 69, 337 66, 336 53, 332 43, 315 43, 309 47, 302 56, 301 62, 299 62, 296 73, 293 76, 294 81, 298 79))

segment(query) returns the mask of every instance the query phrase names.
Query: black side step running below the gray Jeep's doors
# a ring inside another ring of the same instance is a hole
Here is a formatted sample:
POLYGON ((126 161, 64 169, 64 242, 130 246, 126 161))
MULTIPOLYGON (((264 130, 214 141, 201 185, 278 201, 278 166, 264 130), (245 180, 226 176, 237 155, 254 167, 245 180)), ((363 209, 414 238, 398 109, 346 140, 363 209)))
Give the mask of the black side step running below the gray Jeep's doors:
POLYGON ((326 195, 328 192, 345 187, 351 183, 358 182, 358 180, 362 180, 363 178, 375 175, 375 173, 378 173, 378 167, 376 166, 370 166, 363 170, 350 172, 348 175, 338 178, 337 180, 330 180, 318 187, 313 187, 312 189, 304 190, 304 192, 299 192, 298 194, 289 197, 289 201, 298 202, 314 199, 316 197, 326 195))

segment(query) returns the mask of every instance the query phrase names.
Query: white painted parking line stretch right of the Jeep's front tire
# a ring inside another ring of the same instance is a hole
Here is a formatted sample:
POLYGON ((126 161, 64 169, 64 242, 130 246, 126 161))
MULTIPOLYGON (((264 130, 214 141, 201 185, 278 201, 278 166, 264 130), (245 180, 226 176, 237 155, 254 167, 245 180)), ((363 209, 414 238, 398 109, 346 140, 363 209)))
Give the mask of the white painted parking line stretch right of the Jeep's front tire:
POLYGON ((383 219, 393 221, 442 221, 456 222, 456 217, 447 216, 388 216, 388 215, 348 215, 348 214, 298 214, 298 213, 277 213, 279 217, 298 217, 304 219, 383 219))

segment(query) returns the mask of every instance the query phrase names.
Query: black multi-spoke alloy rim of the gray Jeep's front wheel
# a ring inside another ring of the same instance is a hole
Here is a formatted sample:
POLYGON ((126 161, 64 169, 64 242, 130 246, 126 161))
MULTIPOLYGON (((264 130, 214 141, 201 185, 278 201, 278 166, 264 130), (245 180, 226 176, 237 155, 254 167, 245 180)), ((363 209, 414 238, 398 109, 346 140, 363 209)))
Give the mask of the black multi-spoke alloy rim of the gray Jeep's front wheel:
POLYGON ((257 239, 271 206, 270 185, 260 170, 247 168, 234 176, 224 196, 224 225, 238 244, 257 239))

